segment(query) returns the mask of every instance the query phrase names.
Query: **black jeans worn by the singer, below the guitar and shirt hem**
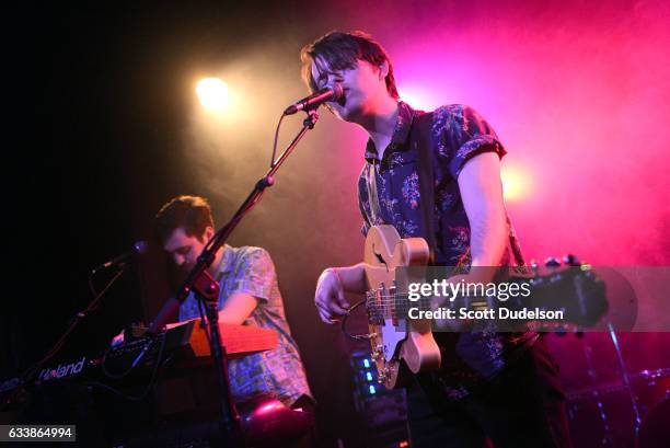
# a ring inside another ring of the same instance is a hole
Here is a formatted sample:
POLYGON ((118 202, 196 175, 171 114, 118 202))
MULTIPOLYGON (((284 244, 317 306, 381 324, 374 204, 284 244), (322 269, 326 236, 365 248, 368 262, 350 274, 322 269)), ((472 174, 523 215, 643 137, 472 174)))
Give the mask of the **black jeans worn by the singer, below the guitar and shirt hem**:
POLYGON ((558 366, 542 340, 470 395, 444 398, 432 376, 407 391, 413 448, 570 448, 558 366))

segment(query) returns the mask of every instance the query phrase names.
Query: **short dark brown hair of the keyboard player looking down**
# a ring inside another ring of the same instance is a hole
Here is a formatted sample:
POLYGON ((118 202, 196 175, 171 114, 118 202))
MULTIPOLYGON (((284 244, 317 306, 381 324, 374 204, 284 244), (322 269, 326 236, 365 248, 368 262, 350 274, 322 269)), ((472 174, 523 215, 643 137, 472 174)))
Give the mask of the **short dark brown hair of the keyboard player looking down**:
POLYGON ((155 215, 155 236, 164 243, 174 229, 183 227, 188 237, 203 241, 205 229, 213 227, 211 207, 199 196, 177 196, 155 215))

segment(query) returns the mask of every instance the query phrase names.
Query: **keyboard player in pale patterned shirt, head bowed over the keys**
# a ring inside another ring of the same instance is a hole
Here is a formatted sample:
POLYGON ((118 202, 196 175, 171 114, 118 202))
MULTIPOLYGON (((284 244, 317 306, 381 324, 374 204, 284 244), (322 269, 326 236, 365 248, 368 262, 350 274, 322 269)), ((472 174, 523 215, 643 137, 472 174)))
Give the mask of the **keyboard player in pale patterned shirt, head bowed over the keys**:
MULTIPOLYGON (((215 232, 211 208, 198 196, 177 196, 155 216, 155 232, 180 271, 188 272, 215 232)), ((220 285, 219 322, 249 324, 278 334, 275 349, 230 359, 231 393, 236 402, 273 395, 291 409, 313 412, 298 345, 284 311, 275 266, 261 248, 223 245, 209 272, 220 285)), ((190 295, 180 308, 180 321, 199 317, 190 295)))

